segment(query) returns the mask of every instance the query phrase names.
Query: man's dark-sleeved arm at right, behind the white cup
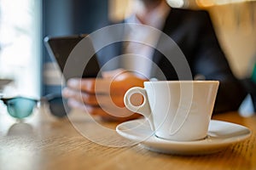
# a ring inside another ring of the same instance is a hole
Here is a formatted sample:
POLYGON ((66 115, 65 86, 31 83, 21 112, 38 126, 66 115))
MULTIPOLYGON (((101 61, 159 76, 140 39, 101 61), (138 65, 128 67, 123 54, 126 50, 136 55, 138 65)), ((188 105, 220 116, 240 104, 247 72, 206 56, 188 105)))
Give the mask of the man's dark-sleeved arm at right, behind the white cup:
POLYGON ((201 12, 201 27, 194 69, 209 80, 220 81, 214 112, 236 111, 246 92, 233 75, 207 12, 201 12))

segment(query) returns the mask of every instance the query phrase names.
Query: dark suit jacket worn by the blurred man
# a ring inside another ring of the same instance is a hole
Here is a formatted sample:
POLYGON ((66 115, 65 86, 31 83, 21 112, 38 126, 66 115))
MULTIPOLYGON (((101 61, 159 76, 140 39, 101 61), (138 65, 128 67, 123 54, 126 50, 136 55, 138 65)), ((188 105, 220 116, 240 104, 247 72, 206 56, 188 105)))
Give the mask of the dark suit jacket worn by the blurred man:
MULTIPOLYGON (((162 31, 172 37, 172 40, 182 50, 189 63, 192 77, 201 75, 207 80, 220 81, 214 112, 237 110, 246 93, 230 70, 230 65, 218 43, 209 14, 206 11, 172 8, 162 31)), ((168 45, 165 42, 160 42, 157 48, 162 46, 167 47, 165 50, 168 50, 168 45)), ((170 53, 172 54, 172 51, 170 53)), ((98 57, 101 65, 104 65, 119 54, 122 54, 122 42, 102 48, 98 57)), ((189 77, 177 77, 177 72, 170 59, 167 59, 158 50, 154 50, 153 61, 163 71, 167 80, 190 79, 189 77)), ((119 65, 110 67, 116 69, 119 65)), ((183 63, 178 67, 183 67, 183 63)), ((153 72, 152 77, 162 79, 156 72, 153 72)))

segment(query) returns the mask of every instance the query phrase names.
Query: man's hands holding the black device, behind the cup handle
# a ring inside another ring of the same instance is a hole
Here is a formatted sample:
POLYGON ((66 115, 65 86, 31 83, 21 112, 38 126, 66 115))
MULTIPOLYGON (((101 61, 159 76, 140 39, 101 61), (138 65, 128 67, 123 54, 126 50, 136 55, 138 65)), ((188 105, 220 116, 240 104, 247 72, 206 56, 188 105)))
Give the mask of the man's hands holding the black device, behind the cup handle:
POLYGON ((125 92, 132 87, 143 87, 145 81, 131 72, 108 71, 102 73, 102 78, 70 79, 62 94, 72 108, 101 116, 103 120, 123 122, 139 116, 125 108, 125 92))

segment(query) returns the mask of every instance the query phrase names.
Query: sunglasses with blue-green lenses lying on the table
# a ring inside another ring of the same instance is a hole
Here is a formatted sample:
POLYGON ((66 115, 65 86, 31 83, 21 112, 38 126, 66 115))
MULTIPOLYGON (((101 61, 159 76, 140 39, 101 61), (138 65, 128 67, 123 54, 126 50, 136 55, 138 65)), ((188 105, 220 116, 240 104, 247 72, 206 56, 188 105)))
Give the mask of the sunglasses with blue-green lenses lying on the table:
POLYGON ((66 99, 63 99, 60 94, 48 94, 42 99, 30 99, 26 97, 14 97, 14 98, 0 98, 3 104, 7 106, 7 111, 10 116, 17 119, 23 119, 27 116, 31 116, 35 106, 38 102, 49 105, 49 112, 56 117, 64 117, 70 111, 70 108, 65 105, 66 99))

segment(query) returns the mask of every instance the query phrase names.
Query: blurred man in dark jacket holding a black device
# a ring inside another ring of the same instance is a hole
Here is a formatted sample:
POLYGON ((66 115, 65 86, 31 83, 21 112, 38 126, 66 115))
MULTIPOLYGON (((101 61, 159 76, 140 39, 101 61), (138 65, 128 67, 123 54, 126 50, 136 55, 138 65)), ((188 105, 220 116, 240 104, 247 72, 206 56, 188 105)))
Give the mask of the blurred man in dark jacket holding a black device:
MULTIPOLYGON (((170 8, 165 0, 138 0, 137 3, 139 8, 135 14, 124 22, 153 26, 171 37, 188 61, 192 77, 220 81, 214 112, 237 110, 246 93, 230 70, 230 65, 213 30, 209 14, 206 11, 170 8)), ((147 34, 143 36, 143 31, 135 31, 128 36, 142 36, 142 39, 152 37, 147 34)), ((156 48, 160 47, 157 42, 161 37, 153 36, 152 38, 149 41, 156 42, 156 48)), ((177 80, 178 73, 175 70, 177 65, 172 65, 158 50, 145 46, 147 45, 137 42, 116 43, 111 48, 103 48, 98 59, 101 65, 104 65, 120 54, 143 55, 160 68, 167 80, 177 80), (114 53, 108 53, 109 49, 112 49, 114 53)), ((63 96, 68 99, 71 107, 85 109, 92 115, 102 116, 103 119, 124 121, 135 118, 137 114, 126 110, 123 103, 126 90, 134 86, 143 86, 143 82, 148 78, 158 76, 156 72, 148 74, 152 71, 149 66, 141 69, 143 65, 148 64, 136 59, 128 59, 119 66, 125 70, 137 71, 139 69, 139 72, 143 72, 146 78, 124 70, 115 70, 103 73, 101 79, 71 79, 67 82, 67 88, 63 90, 63 96), (131 67, 126 67, 124 63, 130 63, 131 67), (147 69, 149 71, 146 71, 147 69), (96 84, 98 88, 95 88, 96 84)))

